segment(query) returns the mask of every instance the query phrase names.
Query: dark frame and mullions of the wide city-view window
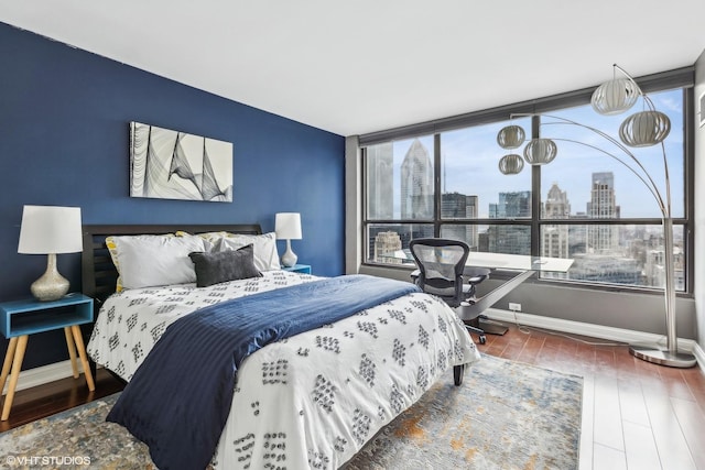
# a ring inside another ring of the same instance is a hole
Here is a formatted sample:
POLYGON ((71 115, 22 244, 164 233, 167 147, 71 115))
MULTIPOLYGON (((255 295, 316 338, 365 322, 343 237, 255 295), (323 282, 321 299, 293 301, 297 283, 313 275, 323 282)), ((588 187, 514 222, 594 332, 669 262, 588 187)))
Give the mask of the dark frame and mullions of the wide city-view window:
MULTIPOLYGON (((679 292, 679 296, 693 296, 693 286, 695 285, 694 278, 694 67, 684 67, 675 70, 669 70, 660 74, 653 74, 647 77, 637 78, 636 81, 647 94, 663 91, 668 89, 681 88, 683 92, 683 183, 684 183, 684 211, 682 217, 674 217, 673 226, 682 226, 684 233, 684 244, 686 251, 685 258, 685 287, 684 291, 679 292)), ((390 267, 390 269, 405 269, 410 266, 393 265, 386 263, 375 263, 370 261, 369 253, 369 240, 368 240, 368 226, 369 225, 432 225, 434 237, 441 236, 442 227, 445 225, 458 226, 458 225, 471 225, 471 226, 492 226, 492 225, 513 225, 513 226, 527 226, 531 232, 531 254, 539 255, 541 253, 541 229, 544 226, 586 226, 586 225, 616 225, 616 226, 640 226, 640 225, 661 225, 661 218, 623 218, 623 219, 547 219, 543 218, 541 214, 541 167, 527 165, 524 171, 529 168, 531 171, 531 218, 517 218, 517 219, 449 219, 443 218, 441 212, 442 194, 441 194, 441 174, 442 174, 442 156, 441 156, 441 134, 445 131, 458 130, 463 128, 470 128, 475 125, 481 125, 492 122, 507 121, 512 113, 550 113, 551 111, 562 110, 565 108, 584 106, 589 103, 589 99, 595 88, 585 88, 573 92, 554 95, 551 97, 536 99, 532 101, 524 101, 514 105, 502 106, 499 108, 492 108, 489 110, 482 110, 477 112, 470 112, 446 119, 429 121, 417 124, 412 124, 403 128, 397 128, 370 134, 359 136, 359 149, 361 152, 361 172, 362 172, 362 185, 361 185, 361 255, 360 260, 362 265, 377 266, 377 267, 390 267), (376 143, 391 142, 394 140, 412 139, 415 136, 433 135, 434 149, 433 149, 433 165, 434 165, 434 216, 433 220, 405 220, 405 219, 375 219, 368 218, 368 200, 367 200, 367 146, 376 143)), ((530 132, 535 134, 538 132, 539 117, 534 116, 532 119, 532 125, 530 132), (534 122, 535 121, 535 122, 534 122)), ((585 287, 590 289, 600 291, 630 291, 630 292, 653 292, 661 288, 649 286, 636 286, 626 284, 608 284, 608 283, 593 283, 577 280, 556 280, 544 278, 541 276, 532 276, 529 282, 552 283, 556 285, 567 285, 571 287, 585 287)))

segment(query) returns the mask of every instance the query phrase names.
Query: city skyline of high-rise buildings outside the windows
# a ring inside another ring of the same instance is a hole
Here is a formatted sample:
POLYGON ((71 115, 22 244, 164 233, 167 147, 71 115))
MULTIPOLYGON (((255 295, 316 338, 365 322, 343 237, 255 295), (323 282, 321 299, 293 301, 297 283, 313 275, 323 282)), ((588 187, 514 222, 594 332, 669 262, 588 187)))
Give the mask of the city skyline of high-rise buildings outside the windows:
MULTIPOLYGON (((434 218, 434 165, 429 149, 421 139, 414 139, 398 165, 394 149, 388 144, 375 147, 368 153, 368 217, 390 220, 392 210, 399 207, 400 220, 419 220, 419 223, 386 223, 368 228, 369 255, 376 262, 398 263, 393 253, 408 249, 412 239, 433 237, 433 226, 424 220, 434 218), (399 171, 395 184, 394 168, 399 171), (397 193, 397 187, 399 193, 397 193), (395 201, 395 195, 399 201, 395 201), (379 204, 379 207, 378 207, 379 204), (384 217, 387 216, 387 217, 384 217)), ((445 172, 444 172, 445 173, 445 172)), ((553 183, 541 201, 541 218, 556 220, 555 225, 543 223, 541 228, 541 254, 554 258, 571 258, 574 264, 567 274, 550 275, 570 280, 608 282, 617 284, 657 286, 663 281, 663 234, 660 227, 587 223, 562 225, 565 219, 586 220, 621 219, 618 198, 620 181, 611 171, 582 173, 589 183, 589 200, 584 210, 571 203, 571 193, 558 183, 553 183), (589 174, 589 178, 588 175, 589 174)), ((444 187, 444 186, 443 186, 444 187)), ((441 219, 451 223, 442 226, 441 237, 466 241, 473 251, 488 251, 508 254, 531 253, 531 231, 528 226, 453 225, 452 220, 529 219, 532 196, 528 189, 501 190, 495 187, 491 200, 480 201, 476 194, 444 192, 440 195, 441 219), (482 217, 481 207, 487 207, 482 217)), ((392 217, 393 219, 394 217, 392 217)), ((399 218, 399 216, 397 216, 399 218)), ((677 229, 676 229, 677 232, 677 229)), ((676 253, 676 275, 683 276, 682 234, 676 253)))

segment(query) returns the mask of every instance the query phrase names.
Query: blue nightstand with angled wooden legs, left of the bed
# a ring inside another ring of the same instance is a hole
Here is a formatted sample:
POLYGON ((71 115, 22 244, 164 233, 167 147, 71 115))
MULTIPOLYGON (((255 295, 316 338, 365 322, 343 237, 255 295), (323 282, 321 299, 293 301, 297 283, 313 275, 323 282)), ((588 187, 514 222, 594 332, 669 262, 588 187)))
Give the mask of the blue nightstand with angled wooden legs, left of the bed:
POLYGON ((88 358, 86 357, 84 338, 78 327, 90 321, 93 321, 93 298, 83 294, 68 294, 58 300, 51 302, 39 302, 32 298, 0 304, 0 330, 10 340, 2 364, 2 374, 0 375, 0 391, 4 389, 8 374, 10 374, 10 367, 12 367, 8 395, 2 407, 2 420, 7 420, 10 416, 14 389, 18 384, 24 351, 26 350, 26 341, 30 335, 35 332, 64 328, 74 379, 78 378, 78 367, 76 364, 76 352, 78 352, 86 374, 88 390, 91 392, 96 390, 93 375, 90 375, 88 358))

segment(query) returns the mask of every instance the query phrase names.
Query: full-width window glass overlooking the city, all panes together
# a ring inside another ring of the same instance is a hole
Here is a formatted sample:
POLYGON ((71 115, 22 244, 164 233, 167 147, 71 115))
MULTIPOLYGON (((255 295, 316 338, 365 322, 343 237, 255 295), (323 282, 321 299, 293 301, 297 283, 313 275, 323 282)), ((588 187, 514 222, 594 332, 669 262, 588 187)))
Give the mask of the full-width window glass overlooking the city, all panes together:
MULTIPOLYGON (((663 85, 649 97, 671 119, 664 149, 676 286, 683 292, 687 291, 692 252, 692 194, 686 184, 692 159, 687 157, 684 121, 692 97, 687 88, 664 89, 663 85)), ((518 106, 517 111, 506 107, 501 112, 480 113, 478 119, 467 114, 464 127, 438 127, 431 134, 365 146, 365 262, 409 263, 412 239, 443 237, 463 240, 473 251, 574 260, 567 273, 542 273, 544 280, 663 286, 662 214, 646 185, 651 177, 665 198, 661 147, 631 150, 649 173, 640 181, 627 167, 637 167, 628 153, 589 129, 618 135, 628 114, 597 114, 588 92, 534 106, 529 112, 518 106), (509 121, 511 112, 516 116, 509 121), (499 159, 523 150, 507 151, 497 144, 497 133, 510 122, 522 127, 528 136, 553 139, 558 147, 555 160, 536 167, 525 164, 519 174, 503 175, 499 159)))

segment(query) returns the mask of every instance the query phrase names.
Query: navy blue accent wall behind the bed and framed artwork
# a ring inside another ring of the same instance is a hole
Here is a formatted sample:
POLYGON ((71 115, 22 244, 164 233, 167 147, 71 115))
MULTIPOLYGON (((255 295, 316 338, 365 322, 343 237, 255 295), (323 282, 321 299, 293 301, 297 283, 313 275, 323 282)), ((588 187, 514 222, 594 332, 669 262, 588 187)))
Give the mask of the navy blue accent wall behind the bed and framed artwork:
MULTIPOLYGON (((275 212, 297 211, 300 262, 314 274, 344 272, 343 136, 4 23, 0 67, 0 300, 30 296, 46 266, 43 255, 17 253, 25 204, 79 206, 84 223, 259 222, 264 231, 275 212), (130 121, 232 142, 234 201, 130 198, 130 121)), ((79 260, 58 255, 72 289, 79 260)), ((36 335, 23 369, 67 357, 63 332, 36 335)))

